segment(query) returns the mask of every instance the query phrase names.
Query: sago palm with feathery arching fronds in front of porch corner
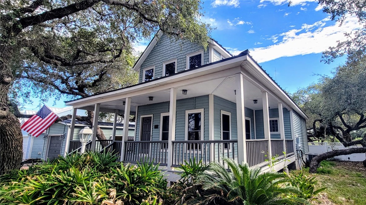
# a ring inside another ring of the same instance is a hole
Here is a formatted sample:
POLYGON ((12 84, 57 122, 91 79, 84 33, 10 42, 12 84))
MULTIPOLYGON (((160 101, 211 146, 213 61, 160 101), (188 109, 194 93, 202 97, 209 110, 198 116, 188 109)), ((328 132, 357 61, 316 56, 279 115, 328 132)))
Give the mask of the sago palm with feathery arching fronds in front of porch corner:
POLYGON ((211 163, 210 170, 198 177, 205 191, 188 204, 309 204, 303 198, 291 197, 301 191, 284 185, 288 182, 285 174, 261 173, 259 168, 250 169, 247 164, 240 165, 228 158, 223 160, 228 169, 220 163, 211 163))

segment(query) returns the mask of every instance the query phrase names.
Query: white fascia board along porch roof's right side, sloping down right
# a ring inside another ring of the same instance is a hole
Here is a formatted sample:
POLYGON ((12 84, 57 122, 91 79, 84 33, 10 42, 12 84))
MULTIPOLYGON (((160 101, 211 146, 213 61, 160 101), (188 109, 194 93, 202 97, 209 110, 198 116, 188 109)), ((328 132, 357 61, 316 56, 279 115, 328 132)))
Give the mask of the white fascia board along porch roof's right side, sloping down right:
POLYGON ((294 101, 291 100, 290 97, 288 97, 288 95, 282 90, 282 88, 280 88, 280 86, 278 86, 276 84, 275 81, 273 81, 272 78, 270 78, 268 76, 267 73, 265 73, 265 71, 262 70, 261 67, 258 66, 258 64, 253 60, 253 58, 249 57, 247 58, 247 62, 250 62, 251 65, 255 68, 255 71, 261 75, 262 78, 257 78, 259 81, 262 81, 262 83, 264 85, 269 85, 270 87, 272 87, 272 89, 270 89, 271 91, 273 91, 273 93, 275 93, 278 97, 280 97, 282 100, 284 100, 288 105, 290 105, 291 108, 293 108, 296 112, 300 113, 300 115, 302 117, 304 117, 305 119, 309 119, 304 112, 302 112, 302 110, 296 105, 296 103, 294 101), (263 80, 264 79, 264 80, 263 80))

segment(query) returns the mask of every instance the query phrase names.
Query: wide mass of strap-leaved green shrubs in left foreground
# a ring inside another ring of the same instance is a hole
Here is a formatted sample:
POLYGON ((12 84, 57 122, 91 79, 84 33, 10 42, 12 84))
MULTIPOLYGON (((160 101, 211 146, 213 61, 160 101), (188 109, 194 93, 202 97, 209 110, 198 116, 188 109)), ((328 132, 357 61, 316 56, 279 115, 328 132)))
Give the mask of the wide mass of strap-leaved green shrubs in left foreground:
POLYGON ((152 163, 72 154, 1 176, 0 204, 158 204, 167 181, 152 163))

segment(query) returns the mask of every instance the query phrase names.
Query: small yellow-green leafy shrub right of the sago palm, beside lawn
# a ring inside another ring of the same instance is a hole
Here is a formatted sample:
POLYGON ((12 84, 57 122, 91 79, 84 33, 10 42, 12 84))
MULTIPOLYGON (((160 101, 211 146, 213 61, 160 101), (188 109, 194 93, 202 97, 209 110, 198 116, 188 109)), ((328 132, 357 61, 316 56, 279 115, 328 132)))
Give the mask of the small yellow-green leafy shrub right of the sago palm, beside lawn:
POLYGON ((298 187, 302 191, 301 194, 295 194, 294 196, 304 198, 309 201, 316 200, 317 194, 326 189, 326 187, 324 187, 315 190, 315 185, 318 181, 315 180, 315 177, 307 176, 304 171, 291 173, 288 178, 290 179, 289 185, 298 187))

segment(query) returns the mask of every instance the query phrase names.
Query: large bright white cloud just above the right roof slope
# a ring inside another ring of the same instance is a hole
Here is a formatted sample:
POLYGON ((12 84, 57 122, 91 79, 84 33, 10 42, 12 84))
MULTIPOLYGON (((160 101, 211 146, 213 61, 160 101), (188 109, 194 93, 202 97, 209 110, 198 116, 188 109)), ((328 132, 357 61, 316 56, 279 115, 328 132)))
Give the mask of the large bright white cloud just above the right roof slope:
MULTIPOLYGON (((303 24, 300 29, 274 35, 269 39, 276 43, 282 37, 279 43, 251 49, 251 55, 258 62, 266 62, 281 57, 322 53, 330 46, 335 46, 337 40, 346 40, 345 32, 351 32, 360 27, 355 17, 348 17, 341 27, 338 22, 324 27, 326 21, 329 21, 329 18, 313 24, 303 24)), ((239 50, 236 51, 238 52, 239 50)))

